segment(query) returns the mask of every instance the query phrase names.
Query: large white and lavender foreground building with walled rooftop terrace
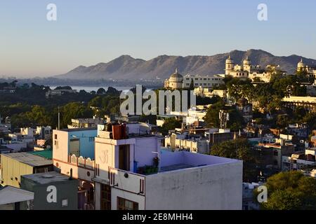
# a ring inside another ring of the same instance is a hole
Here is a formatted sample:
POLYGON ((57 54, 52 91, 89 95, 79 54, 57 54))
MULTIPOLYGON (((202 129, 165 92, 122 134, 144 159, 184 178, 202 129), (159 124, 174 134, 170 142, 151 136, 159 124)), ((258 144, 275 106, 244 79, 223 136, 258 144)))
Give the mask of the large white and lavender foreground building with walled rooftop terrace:
POLYGON ((95 152, 88 166, 70 155, 69 133, 53 132, 55 167, 67 175, 72 169, 93 190, 95 209, 242 209, 242 161, 161 151, 157 137, 140 132, 137 123, 105 130, 86 147, 95 152))

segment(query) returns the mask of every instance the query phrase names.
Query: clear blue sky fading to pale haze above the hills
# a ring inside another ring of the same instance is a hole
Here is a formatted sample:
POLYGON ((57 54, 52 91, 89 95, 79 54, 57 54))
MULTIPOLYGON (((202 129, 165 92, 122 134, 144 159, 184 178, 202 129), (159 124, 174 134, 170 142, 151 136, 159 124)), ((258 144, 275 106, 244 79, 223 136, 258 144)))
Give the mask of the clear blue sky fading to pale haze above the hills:
POLYGON ((250 48, 316 59, 315 8, 315 0, 0 0, 0 76, 250 48), (57 21, 46 20, 48 3, 57 21), (259 3, 268 21, 257 19, 259 3))

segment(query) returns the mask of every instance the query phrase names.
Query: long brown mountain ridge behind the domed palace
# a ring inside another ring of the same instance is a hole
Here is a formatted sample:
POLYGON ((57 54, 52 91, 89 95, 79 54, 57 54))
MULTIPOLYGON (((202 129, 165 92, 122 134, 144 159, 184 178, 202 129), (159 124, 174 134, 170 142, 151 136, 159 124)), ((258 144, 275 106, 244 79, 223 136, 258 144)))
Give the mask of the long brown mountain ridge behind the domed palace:
MULTIPOLYGON (((93 66, 78 66, 77 68, 65 74, 55 76, 54 78, 68 78, 73 80, 139 80, 168 78, 170 74, 178 67, 182 74, 201 74, 212 75, 224 73, 225 59, 231 55, 235 64, 242 64, 246 56, 251 59, 252 64, 266 66, 267 64, 279 64, 281 69, 288 73, 294 73, 301 56, 291 55, 288 57, 277 57, 263 50, 233 50, 213 56, 168 56, 161 55, 145 61, 135 59, 129 55, 122 55, 107 63, 99 63, 93 66)), ((316 66, 315 59, 303 57, 305 64, 316 66)))

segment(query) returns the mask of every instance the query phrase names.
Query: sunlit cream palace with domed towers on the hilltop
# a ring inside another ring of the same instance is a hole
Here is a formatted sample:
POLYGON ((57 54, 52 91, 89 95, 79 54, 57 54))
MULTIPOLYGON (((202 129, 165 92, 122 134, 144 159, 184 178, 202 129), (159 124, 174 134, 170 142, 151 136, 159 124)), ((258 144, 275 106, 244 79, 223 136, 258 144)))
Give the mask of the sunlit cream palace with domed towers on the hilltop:
MULTIPOLYGON (((316 68, 306 66, 303 63, 303 59, 301 59, 301 62, 298 62, 297 66, 297 71, 301 70, 307 71, 308 75, 310 76, 315 77, 316 75, 316 68)), ((246 78, 250 78, 254 82, 263 81, 268 83, 270 82, 270 78, 274 73, 282 73, 284 75, 286 74, 285 71, 280 69, 279 65, 268 64, 265 66, 265 69, 262 69, 259 65, 252 65, 248 57, 244 59, 242 65, 239 65, 235 64, 232 58, 229 56, 225 61, 225 74, 213 76, 192 76, 187 74, 186 76, 182 76, 180 73, 178 73, 178 69, 176 69, 176 71, 171 74, 170 78, 164 81, 164 87, 171 90, 185 89, 190 87, 216 87, 220 84, 223 84, 223 79, 225 76, 232 76, 244 80, 246 80, 246 78)))

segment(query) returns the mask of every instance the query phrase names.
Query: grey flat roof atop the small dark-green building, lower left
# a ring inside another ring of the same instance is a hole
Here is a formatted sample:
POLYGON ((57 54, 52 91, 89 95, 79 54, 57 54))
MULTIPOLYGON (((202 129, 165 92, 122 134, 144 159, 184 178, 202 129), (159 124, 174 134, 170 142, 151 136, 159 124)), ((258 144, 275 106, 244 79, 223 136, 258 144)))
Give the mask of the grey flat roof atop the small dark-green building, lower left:
POLYGON ((48 184, 48 183, 55 183, 55 182, 70 181, 69 176, 66 176, 64 174, 60 174, 58 172, 28 174, 28 175, 23 175, 23 178, 32 180, 34 183, 39 183, 39 184, 48 184))

